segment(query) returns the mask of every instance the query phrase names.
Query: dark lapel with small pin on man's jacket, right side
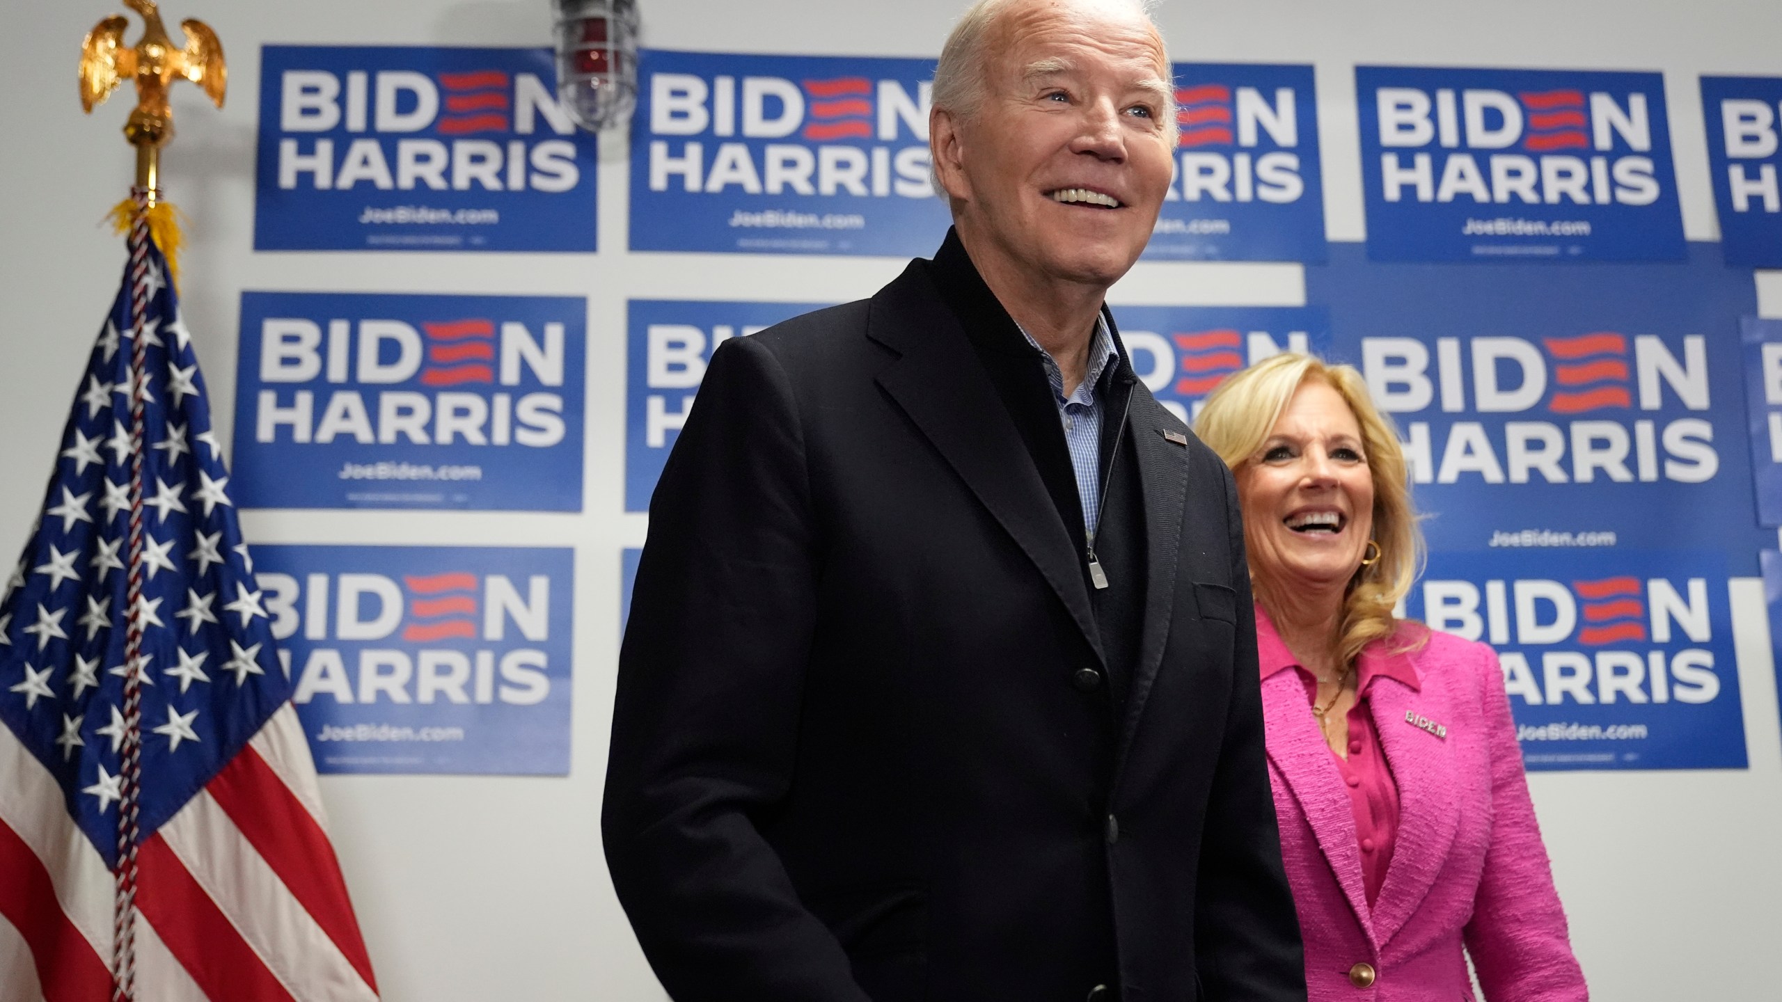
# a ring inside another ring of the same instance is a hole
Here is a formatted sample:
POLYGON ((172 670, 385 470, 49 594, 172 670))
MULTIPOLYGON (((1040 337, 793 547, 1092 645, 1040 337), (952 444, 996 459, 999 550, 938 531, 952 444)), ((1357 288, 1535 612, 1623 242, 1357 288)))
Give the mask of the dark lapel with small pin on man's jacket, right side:
MULTIPOLYGON (((1112 323, 1108 317, 1108 324, 1112 323)), ((1123 760, 1139 731, 1139 717, 1144 713, 1151 683, 1157 681, 1164 663, 1171 613, 1176 608, 1176 549, 1181 542, 1181 506, 1189 490, 1189 449, 1164 439, 1162 414, 1151 392, 1142 383, 1133 385, 1128 421, 1144 497, 1146 587, 1144 631, 1139 638, 1139 660, 1133 663, 1126 722, 1121 731, 1123 760)))

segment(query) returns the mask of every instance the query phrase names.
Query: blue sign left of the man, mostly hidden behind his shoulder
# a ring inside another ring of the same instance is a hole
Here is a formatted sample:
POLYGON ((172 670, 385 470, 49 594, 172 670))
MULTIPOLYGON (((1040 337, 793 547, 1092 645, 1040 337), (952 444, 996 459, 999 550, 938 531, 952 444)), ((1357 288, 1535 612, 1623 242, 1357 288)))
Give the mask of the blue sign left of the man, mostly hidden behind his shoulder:
POLYGON ((625 314, 625 510, 649 512, 668 449, 718 344, 823 303, 631 300, 625 314))

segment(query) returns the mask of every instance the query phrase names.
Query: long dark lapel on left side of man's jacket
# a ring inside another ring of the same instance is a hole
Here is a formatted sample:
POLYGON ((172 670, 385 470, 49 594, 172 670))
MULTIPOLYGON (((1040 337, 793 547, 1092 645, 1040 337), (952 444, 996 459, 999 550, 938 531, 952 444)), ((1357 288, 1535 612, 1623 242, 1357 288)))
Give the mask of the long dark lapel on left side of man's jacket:
POLYGON ((866 333, 900 353, 879 373, 879 385, 1014 537, 1105 665, 1080 540, 1059 519, 1021 433, 923 262, 873 296, 866 333))

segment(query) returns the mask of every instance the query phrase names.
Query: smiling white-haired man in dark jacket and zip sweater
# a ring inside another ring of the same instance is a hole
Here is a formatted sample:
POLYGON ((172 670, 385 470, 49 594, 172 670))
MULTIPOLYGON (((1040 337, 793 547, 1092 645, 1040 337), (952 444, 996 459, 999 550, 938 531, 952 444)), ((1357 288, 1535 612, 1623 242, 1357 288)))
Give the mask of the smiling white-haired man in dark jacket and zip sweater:
POLYGON ((936 259, 713 355, 602 818, 677 1002, 1304 998, 1231 476, 1103 307, 1173 119, 1137 5, 980 4, 936 259))

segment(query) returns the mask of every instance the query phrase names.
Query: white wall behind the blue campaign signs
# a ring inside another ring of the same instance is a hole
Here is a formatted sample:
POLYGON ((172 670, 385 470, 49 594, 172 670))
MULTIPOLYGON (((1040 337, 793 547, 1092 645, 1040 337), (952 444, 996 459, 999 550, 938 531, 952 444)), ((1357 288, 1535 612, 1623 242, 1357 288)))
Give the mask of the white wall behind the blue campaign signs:
MULTIPOLYGON (((936 55, 962 0, 640 0, 647 43, 770 53, 936 55)), ((75 96, 82 34, 103 4, 5 5, 0 66, 0 553, 23 544, 91 339, 123 264, 98 219, 125 194, 130 152, 114 98, 91 119, 75 96)), ((242 289, 531 292, 590 298, 586 510, 581 515, 248 512, 255 542, 449 542, 577 547, 574 763, 567 779, 324 777, 335 845, 387 998, 661 998, 608 884, 599 801, 618 647, 618 551, 643 540, 622 513, 624 300, 846 300, 902 262, 627 255, 625 162, 602 162, 597 255, 253 253, 262 43, 545 45, 549 0, 169 0, 230 55, 230 103, 175 98, 166 189, 189 216, 187 321, 216 426, 233 403, 242 289), (697 276, 697 282, 693 280, 697 276)), ((1329 237, 1363 237, 1356 62, 1663 70, 1684 226, 1716 239, 1698 73, 1782 75, 1775 0, 1167 0, 1183 61, 1315 62, 1329 237)), ((134 34, 135 29, 132 29, 134 34)), ((1297 266, 1140 264, 1126 303, 1297 305, 1297 266)), ((1782 273, 1759 276, 1782 317, 1782 273)), ((1782 943, 1782 735, 1762 595, 1734 587, 1745 772, 1577 772, 1533 777, 1574 943, 1598 998, 1773 998, 1782 943)))

